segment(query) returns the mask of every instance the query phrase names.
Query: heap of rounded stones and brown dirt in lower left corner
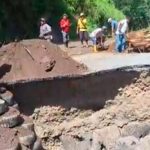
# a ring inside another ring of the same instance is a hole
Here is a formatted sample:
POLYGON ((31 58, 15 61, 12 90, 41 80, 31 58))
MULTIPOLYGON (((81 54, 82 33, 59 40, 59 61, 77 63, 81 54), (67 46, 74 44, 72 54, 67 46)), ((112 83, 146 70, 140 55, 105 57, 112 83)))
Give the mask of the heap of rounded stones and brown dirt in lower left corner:
POLYGON ((42 150, 32 119, 20 113, 13 94, 5 88, 0 89, 0 149, 42 150))

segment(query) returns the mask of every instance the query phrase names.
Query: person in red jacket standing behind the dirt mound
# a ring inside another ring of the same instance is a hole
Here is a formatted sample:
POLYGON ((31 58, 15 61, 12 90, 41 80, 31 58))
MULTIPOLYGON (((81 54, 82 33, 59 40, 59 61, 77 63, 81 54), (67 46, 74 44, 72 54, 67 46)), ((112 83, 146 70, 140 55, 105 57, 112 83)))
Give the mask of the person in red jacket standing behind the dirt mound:
POLYGON ((70 32, 70 20, 68 19, 67 14, 63 15, 63 18, 60 20, 60 28, 62 32, 63 37, 63 43, 65 44, 65 47, 68 48, 69 44, 69 32, 70 32))

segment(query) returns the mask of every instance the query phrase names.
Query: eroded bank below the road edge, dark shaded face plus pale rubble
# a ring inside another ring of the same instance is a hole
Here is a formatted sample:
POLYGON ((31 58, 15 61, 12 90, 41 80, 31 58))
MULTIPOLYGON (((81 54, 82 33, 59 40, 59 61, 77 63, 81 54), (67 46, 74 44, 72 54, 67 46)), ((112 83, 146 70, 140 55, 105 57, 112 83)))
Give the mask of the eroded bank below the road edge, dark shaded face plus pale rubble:
POLYGON ((150 131, 150 73, 149 68, 141 70, 22 82, 8 88, 24 114, 32 115, 47 150, 136 149, 148 144, 150 131))

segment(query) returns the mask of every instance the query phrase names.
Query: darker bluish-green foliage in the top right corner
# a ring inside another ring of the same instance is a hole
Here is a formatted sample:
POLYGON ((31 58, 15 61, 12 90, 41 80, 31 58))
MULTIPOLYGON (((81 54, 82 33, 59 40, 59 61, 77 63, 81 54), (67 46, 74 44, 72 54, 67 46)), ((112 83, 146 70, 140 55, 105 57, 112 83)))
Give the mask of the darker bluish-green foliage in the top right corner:
POLYGON ((150 0, 113 0, 116 7, 131 16, 133 29, 150 26, 150 0))

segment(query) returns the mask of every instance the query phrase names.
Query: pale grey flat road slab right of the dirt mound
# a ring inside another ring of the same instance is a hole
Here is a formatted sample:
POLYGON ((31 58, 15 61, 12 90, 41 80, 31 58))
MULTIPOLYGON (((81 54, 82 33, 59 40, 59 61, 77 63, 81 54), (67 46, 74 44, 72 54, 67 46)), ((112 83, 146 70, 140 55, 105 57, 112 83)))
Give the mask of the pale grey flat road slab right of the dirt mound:
POLYGON ((150 65, 150 53, 142 54, 113 54, 101 52, 97 54, 85 54, 72 56, 80 63, 85 64, 91 72, 116 69, 135 65, 150 65))

